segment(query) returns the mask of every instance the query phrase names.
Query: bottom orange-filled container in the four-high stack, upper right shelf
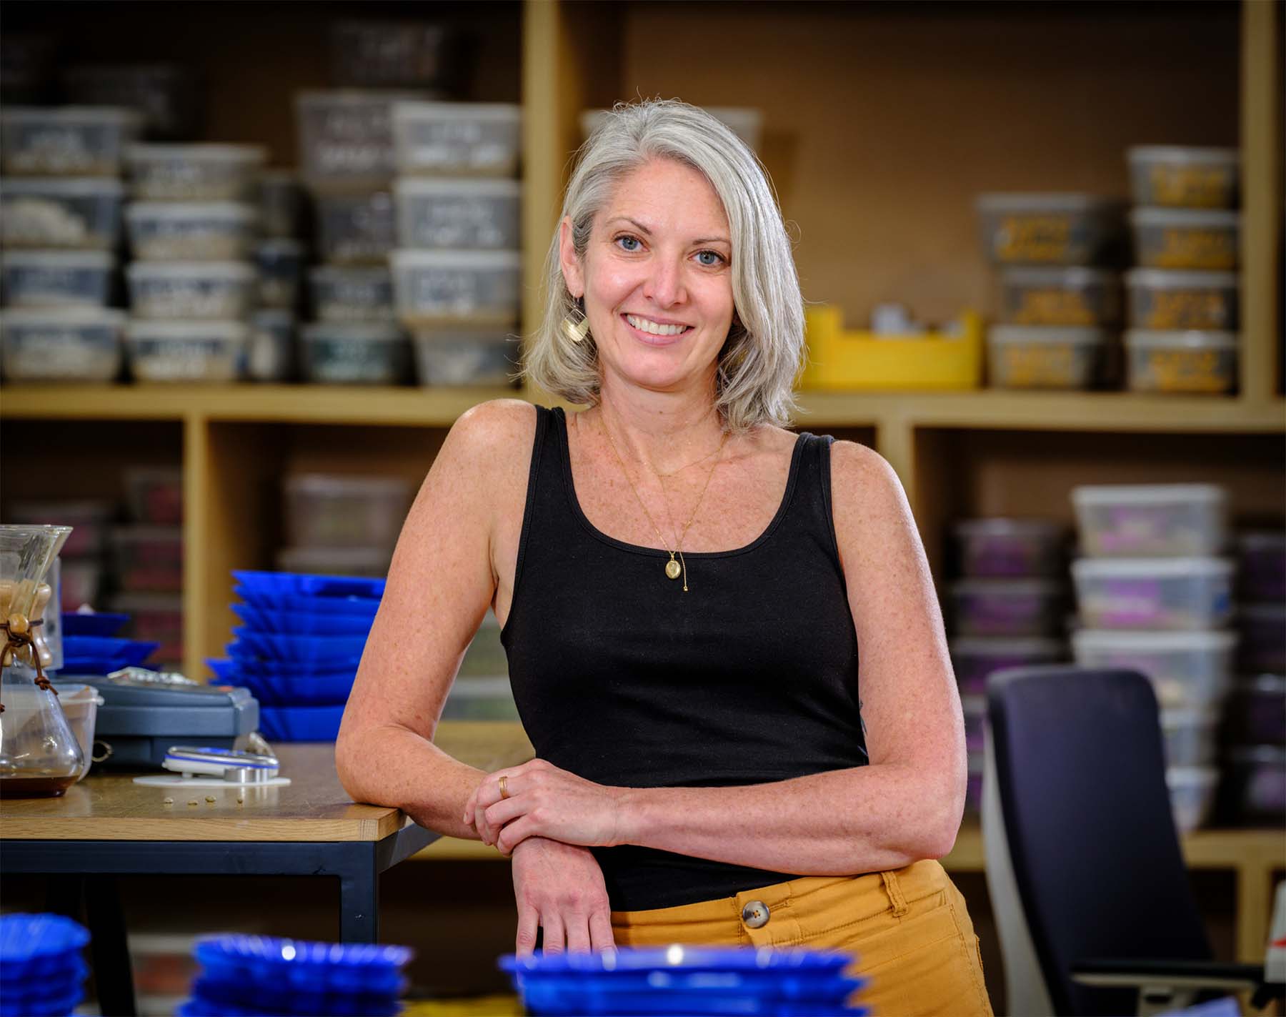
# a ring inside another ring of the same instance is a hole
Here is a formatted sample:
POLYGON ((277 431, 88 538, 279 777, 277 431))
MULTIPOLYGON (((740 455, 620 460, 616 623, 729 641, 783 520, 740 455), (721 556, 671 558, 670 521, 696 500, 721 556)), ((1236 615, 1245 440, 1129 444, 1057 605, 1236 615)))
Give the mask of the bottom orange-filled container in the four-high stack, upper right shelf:
POLYGON ((1231 332, 1127 332, 1127 386, 1132 392, 1224 395, 1237 387, 1237 345, 1231 332))

